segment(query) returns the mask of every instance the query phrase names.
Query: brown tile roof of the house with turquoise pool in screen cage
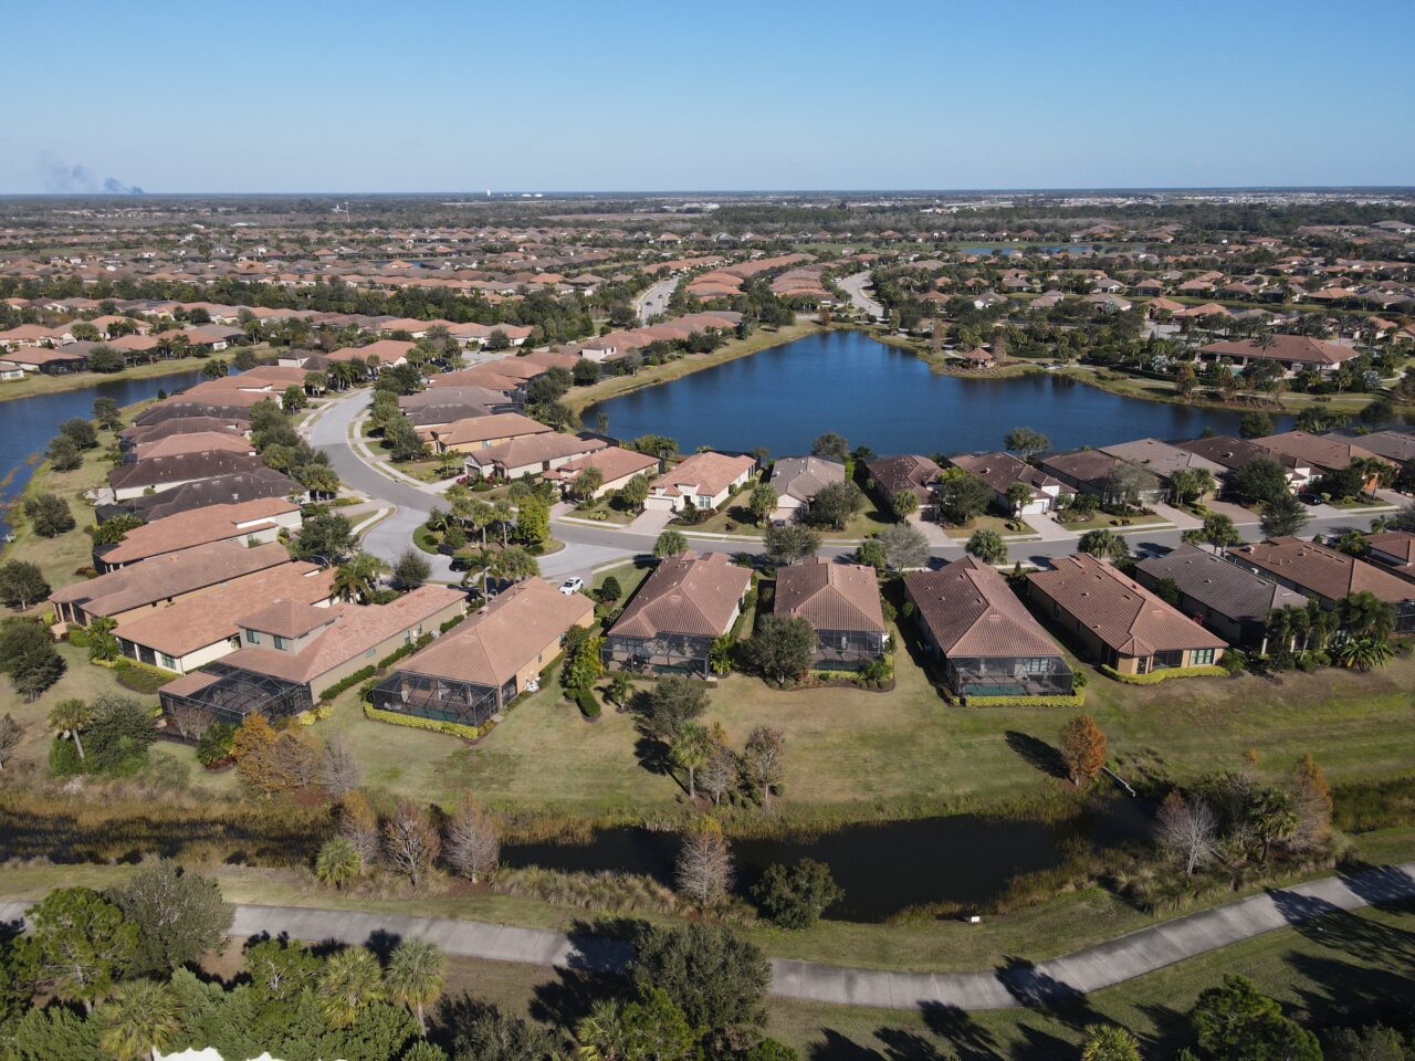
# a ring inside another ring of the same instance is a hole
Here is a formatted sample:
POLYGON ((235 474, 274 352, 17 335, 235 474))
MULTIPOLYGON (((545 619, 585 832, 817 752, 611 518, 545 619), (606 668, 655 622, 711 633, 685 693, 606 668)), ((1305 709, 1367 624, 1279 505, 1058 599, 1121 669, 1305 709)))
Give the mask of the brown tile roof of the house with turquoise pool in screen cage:
POLYGON ((934 644, 958 659, 1060 656, 1007 580, 975 556, 913 572, 904 587, 934 644))

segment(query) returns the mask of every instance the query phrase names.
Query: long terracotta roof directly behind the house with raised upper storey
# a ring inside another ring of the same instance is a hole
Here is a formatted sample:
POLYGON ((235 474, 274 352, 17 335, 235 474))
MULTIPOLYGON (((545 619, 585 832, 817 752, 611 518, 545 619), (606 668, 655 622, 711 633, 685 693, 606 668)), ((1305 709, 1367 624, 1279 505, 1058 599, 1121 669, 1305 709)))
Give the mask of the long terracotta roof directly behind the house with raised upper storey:
MULTIPOLYGON (((156 652, 184 656, 236 637, 236 621, 248 613, 262 610, 262 605, 275 608, 287 603, 304 607, 327 601, 334 591, 333 583, 333 572, 320 570, 313 563, 291 562, 232 579, 214 593, 126 618, 119 622, 117 635, 156 652)), ((313 611, 321 611, 325 617, 331 614, 328 608, 313 611)))

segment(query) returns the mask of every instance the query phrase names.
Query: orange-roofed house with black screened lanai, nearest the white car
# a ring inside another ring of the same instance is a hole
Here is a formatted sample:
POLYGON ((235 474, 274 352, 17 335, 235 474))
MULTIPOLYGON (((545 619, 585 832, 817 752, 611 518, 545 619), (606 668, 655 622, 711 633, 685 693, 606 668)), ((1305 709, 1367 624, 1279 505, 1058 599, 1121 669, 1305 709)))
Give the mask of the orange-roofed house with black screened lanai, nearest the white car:
POLYGON ((371 693, 375 707, 481 726, 539 680, 572 627, 591 627, 594 601, 541 579, 518 583, 415 652, 371 693))

